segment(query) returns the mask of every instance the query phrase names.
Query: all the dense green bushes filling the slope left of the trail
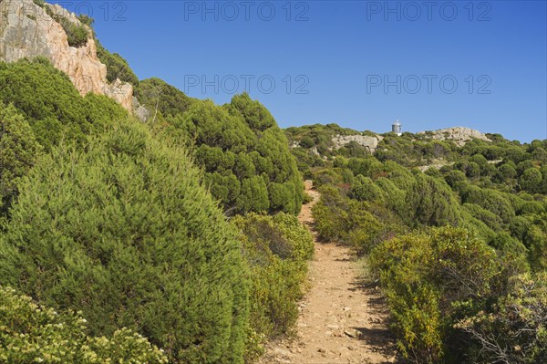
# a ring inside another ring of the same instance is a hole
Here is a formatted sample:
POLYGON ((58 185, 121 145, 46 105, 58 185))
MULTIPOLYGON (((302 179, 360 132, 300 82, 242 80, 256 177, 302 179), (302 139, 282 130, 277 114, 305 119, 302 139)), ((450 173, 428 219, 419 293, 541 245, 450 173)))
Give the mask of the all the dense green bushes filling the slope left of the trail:
MULTIPOLYGON (((198 127, 186 128, 183 121, 193 117, 185 112, 195 100, 181 91, 166 86, 163 95, 170 97, 159 103, 158 122, 142 124, 111 99, 81 97, 45 58, 0 64, 0 85, 0 285, 12 303, 28 299, 7 286, 59 312, 51 317, 51 310, 30 304, 24 312, 3 306, 5 319, 27 319, 31 327, 14 327, 20 340, 0 338, 2 355, 13 362, 47 355, 163 362, 138 332, 170 362, 237 363, 255 359, 266 340, 290 332, 313 245, 294 216, 303 194, 299 173, 262 105, 247 96, 224 107, 200 101, 202 110, 237 120, 226 135, 249 132, 235 134, 253 138, 239 151, 242 158, 248 152, 272 173, 242 167, 264 187, 262 207, 254 210, 277 214, 241 215, 229 223, 207 191, 218 185, 193 167, 194 158, 207 161, 198 151, 216 138, 219 130, 209 126, 223 128, 222 119, 205 114, 198 127), (252 132, 248 123, 263 132, 252 132), (202 139, 190 139, 191 130, 200 129, 202 139), (274 183, 283 187, 286 179, 292 195, 285 202, 274 183), (278 204, 270 207, 270 199, 278 204), (263 229, 253 230, 255 223, 263 229), (48 331, 61 323, 66 330, 48 331)), ((138 92, 150 97, 158 85, 167 84, 144 81, 138 92)), ((227 148, 237 148, 235 140, 227 148)), ((250 206, 255 185, 244 185, 247 200, 238 201, 250 206)), ((232 214, 253 210, 222 207, 232 214)))

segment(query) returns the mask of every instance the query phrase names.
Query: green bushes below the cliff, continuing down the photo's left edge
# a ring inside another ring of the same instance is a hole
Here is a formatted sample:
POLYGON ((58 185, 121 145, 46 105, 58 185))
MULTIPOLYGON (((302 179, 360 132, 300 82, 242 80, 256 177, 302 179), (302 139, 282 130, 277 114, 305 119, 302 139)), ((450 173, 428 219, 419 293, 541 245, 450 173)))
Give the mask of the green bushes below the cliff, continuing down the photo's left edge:
POLYGON ((82 147, 112 120, 128 114, 105 96, 82 98, 67 75, 43 57, 0 62, 0 215, 16 195, 16 185, 37 154, 61 140, 82 147))

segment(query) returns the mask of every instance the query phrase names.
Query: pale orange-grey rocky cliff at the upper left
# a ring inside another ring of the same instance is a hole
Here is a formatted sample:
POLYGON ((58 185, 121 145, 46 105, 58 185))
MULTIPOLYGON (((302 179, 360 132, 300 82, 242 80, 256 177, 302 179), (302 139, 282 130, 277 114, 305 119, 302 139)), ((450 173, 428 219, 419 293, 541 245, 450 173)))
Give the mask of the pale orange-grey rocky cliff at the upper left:
MULTIPOLYGON (((59 5, 46 5, 51 13, 83 26, 77 17, 59 5)), ((32 0, 0 0, 0 60, 15 62, 21 58, 42 56, 72 80, 81 95, 94 92, 107 95, 129 110, 139 109, 133 103, 133 88, 117 79, 107 80, 107 67, 97 57, 97 46, 88 28, 87 44, 68 46, 67 34, 44 7, 32 0)))

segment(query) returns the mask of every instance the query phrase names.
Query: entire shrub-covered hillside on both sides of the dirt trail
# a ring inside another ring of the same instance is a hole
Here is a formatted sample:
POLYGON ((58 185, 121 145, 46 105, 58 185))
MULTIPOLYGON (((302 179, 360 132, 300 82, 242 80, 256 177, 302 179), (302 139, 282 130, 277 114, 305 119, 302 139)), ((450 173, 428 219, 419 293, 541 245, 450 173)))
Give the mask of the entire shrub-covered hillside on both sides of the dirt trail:
MULTIPOLYGON (((78 18, 54 19, 71 47, 96 36, 78 18)), ((192 99, 97 45, 147 120, 45 57, 0 62, 1 362, 256 362, 305 293, 305 179, 402 362, 547 362, 547 140, 281 130, 248 94, 192 99)))

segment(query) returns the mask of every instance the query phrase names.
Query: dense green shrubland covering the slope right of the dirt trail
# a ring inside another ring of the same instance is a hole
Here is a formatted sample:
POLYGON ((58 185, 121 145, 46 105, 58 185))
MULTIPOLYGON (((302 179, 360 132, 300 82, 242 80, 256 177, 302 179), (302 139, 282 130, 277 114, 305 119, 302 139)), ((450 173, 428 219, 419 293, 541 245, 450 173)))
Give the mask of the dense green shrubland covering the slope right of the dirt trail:
POLYGON ((458 146, 388 133, 374 154, 356 145, 318 154, 334 132, 289 135, 321 186, 320 234, 368 257, 401 354, 416 363, 547 360, 547 140, 489 135, 458 146), (428 163, 437 168, 412 169, 428 163))

